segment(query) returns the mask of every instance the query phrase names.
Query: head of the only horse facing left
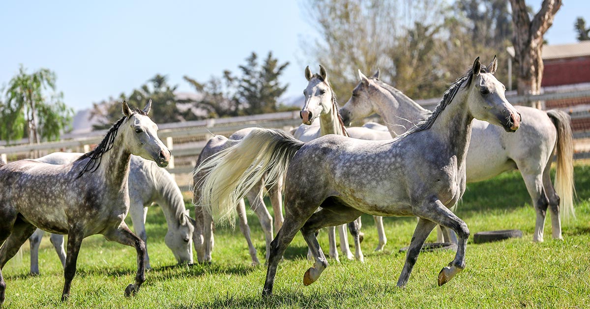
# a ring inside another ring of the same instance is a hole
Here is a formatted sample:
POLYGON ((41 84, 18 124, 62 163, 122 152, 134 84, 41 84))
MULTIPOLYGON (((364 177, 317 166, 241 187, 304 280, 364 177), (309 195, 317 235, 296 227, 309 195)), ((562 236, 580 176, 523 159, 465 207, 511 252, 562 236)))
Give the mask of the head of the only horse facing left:
MULTIPOLYGON (((374 100, 371 100, 370 93, 375 90, 375 82, 369 79, 359 70, 360 83, 352 90, 352 96, 348 102, 340 108, 340 115, 345 125, 350 125, 353 121, 359 121, 365 117, 371 116, 377 110, 374 100)), ((379 77, 379 71, 373 77, 379 77)))

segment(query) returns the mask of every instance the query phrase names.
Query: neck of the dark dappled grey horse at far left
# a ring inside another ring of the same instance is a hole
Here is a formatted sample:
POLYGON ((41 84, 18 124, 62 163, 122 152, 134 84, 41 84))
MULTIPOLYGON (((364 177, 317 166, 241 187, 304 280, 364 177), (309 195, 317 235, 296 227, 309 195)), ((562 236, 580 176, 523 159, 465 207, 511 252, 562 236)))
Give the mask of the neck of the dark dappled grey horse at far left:
POLYGON ((103 154, 98 168, 109 190, 117 193, 129 190, 127 181, 129 180, 130 161, 131 152, 123 146, 122 138, 117 136, 113 148, 103 154))

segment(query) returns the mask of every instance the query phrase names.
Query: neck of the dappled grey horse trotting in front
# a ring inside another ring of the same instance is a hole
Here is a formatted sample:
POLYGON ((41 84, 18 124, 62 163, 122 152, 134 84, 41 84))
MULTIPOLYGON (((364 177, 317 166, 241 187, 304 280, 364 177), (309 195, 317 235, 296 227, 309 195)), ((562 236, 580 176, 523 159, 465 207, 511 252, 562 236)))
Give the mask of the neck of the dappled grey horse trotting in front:
POLYGON ((473 116, 468 113, 467 92, 459 90, 453 101, 448 103, 428 130, 448 148, 447 153, 457 156, 459 167, 464 164, 467 155, 472 122, 473 116))

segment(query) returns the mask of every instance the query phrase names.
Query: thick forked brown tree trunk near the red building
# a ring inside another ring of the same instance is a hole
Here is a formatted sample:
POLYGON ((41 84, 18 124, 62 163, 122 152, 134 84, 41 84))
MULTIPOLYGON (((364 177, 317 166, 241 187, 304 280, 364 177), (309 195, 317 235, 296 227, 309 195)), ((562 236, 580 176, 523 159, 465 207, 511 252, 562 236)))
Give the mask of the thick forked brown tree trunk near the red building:
MULTIPOLYGON (((530 20, 525 0, 510 0, 514 25, 514 61, 517 64, 519 95, 539 95, 543 78, 543 35, 553 24, 553 17, 561 6, 561 0, 543 0, 539 12, 530 20)), ((542 102, 529 102, 542 109, 542 102)))

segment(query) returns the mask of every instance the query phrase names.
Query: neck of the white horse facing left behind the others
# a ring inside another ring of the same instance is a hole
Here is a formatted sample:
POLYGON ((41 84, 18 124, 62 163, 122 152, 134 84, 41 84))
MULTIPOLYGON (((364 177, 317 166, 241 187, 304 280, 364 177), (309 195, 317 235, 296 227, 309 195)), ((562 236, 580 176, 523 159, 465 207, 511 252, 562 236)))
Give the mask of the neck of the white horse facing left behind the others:
POLYGON ((378 89, 374 102, 379 115, 391 132, 404 133, 417 125, 419 121, 424 120, 430 112, 401 92, 394 95, 384 87, 378 87, 378 89))

